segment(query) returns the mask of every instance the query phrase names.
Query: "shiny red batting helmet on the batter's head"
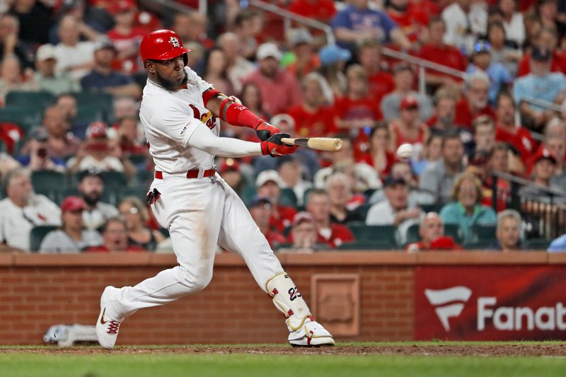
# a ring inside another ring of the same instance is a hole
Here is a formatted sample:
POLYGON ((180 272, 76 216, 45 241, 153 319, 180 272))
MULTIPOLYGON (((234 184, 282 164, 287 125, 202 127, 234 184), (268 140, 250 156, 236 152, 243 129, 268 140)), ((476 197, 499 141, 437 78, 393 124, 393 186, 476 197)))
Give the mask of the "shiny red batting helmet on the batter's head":
POLYGON ((139 52, 141 60, 168 60, 185 54, 191 50, 183 47, 180 37, 171 30, 155 30, 141 40, 139 52))

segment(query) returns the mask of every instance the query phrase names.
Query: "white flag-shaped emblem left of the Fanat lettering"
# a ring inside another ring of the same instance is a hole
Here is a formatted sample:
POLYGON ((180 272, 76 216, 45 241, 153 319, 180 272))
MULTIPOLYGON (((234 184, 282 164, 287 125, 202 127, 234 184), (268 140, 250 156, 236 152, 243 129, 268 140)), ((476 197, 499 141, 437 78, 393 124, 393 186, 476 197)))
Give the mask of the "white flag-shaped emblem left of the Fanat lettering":
POLYGON ((438 319, 442 323, 446 332, 450 331, 451 317, 458 317, 462 313, 464 303, 466 303, 472 295, 472 290, 467 286, 453 286, 447 289, 425 289, 424 295, 427 296, 432 306, 437 306, 434 312, 437 313, 438 319), (461 302, 454 302, 461 301, 461 302), (446 304, 446 305, 444 305, 446 304))

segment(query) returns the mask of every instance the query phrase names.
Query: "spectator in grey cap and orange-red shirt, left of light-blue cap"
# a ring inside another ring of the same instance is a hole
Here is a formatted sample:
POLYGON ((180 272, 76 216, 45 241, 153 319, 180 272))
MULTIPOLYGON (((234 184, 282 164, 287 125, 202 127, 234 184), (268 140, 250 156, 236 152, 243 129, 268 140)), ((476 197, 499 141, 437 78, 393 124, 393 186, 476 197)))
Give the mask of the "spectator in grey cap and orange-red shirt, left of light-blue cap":
POLYGON ((294 62, 286 68, 300 81, 320 66, 320 60, 314 52, 313 36, 308 30, 296 29, 290 39, 294 62))

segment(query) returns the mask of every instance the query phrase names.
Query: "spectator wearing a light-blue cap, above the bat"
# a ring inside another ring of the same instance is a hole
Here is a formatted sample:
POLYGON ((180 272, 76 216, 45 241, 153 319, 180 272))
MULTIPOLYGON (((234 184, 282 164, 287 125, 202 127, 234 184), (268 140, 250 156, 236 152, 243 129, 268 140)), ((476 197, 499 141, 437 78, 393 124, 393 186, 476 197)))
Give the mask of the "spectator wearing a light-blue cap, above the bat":
POLYGON ((350 50, 345 50, 337 45, 327 45, 318 51, 318 58, 320 59, 318 73, 328 83, 328 88, 323 87, 323 92, 329 103, 334 103, 334 98, 342 97, 346 93, 344 69, 346 62, 351 57, 350 50))

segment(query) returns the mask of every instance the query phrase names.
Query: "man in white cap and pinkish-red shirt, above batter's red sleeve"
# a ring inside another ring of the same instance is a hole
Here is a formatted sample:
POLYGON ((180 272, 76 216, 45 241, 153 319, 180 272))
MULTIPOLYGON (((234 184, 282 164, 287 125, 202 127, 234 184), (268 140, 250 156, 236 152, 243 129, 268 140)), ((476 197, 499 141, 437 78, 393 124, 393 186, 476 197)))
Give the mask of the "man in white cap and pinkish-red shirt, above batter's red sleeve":
POLYGON ((292 74, 279 69, 282 58, 279 47, 274 43, 264 43, 258 47, 255 56, 258 69, 243 79, 243 83, 255 83, 260 88, 265 111, 278 114, 292 105, 299 105, 303 98, 299 81, 292 74))

